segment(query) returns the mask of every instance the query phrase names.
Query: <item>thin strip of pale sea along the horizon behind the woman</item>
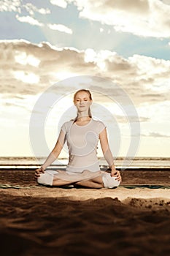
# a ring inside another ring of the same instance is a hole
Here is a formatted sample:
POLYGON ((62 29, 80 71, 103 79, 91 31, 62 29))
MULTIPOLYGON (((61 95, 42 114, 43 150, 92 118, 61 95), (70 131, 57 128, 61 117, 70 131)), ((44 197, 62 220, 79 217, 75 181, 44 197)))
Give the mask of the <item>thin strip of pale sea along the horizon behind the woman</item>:
MULTIPOLYGON (((45 157, 0 157, 0 170, 32 170, 45 162, 45 157)), ((101 169, 107 168, 104 159, 98 159, 101 169)), ((68 159, 58 159, 50 167, 65 168, 68 159)), ((115 167, 120 170, 170 170, 170 157, 117 157, 115 167)))

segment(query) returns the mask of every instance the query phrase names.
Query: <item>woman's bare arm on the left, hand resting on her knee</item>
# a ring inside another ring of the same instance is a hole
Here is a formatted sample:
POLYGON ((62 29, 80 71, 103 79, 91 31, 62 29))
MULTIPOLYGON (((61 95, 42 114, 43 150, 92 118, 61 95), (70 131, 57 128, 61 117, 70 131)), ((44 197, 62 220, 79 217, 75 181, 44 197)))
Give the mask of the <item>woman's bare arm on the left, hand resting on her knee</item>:
POLYGON ((61 153, 61 150, 63 148, 64 142, 65 142, 65 134, 61 130, 60 135, 58 136, 58 140, 53 148, 53 151, 51 151, 51 153, 45 160, 44 164, 40 168, 36 169, 35 178, 38 178, 40 176, 40 173, 45 173, 45 169, 48 166, 50 166, 58 158, 58 156, 61 153))

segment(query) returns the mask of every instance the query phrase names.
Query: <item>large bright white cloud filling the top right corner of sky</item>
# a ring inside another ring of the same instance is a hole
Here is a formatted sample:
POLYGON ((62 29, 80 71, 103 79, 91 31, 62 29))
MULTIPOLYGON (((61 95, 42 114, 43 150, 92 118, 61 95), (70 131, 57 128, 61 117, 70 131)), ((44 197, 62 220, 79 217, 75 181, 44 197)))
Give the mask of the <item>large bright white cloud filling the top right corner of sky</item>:
POLYGON ((170 7, 160 0, 68 0, 77 5, 80 18, 97 20, 116 31, 142 37, 169 38, 170 7))

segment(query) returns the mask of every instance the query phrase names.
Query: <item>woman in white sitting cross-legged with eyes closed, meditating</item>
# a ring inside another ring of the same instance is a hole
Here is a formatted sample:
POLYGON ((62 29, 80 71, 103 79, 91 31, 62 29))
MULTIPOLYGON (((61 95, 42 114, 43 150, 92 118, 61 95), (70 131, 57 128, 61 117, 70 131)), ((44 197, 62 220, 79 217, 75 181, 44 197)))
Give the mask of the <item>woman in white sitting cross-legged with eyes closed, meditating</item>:
POLYGON ((63 124, 53 151, 44 164, 36 169, 35 178, 39 184, 50 186, 77 184, 90 188, 119 186, 121 176, 115 169, 107 139, 107 129, 103 122, 92 118, 90 113, 92 102, 90 91, 86 89, 74 94, 77 117, 63 124), (96 154, 98 139, 111 173, 100 170, 96 154), (65 141, 69 148, 69 163, 66 170, 45 170, 58 158, 65 141))

